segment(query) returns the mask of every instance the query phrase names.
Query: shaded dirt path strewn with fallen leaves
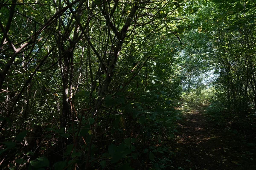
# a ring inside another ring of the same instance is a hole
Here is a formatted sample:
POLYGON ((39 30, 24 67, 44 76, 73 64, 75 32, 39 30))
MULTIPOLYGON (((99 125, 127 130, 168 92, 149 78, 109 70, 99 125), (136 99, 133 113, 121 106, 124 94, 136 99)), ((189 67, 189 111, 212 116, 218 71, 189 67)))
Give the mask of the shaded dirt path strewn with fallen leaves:
POLYGON ((256 132, 248 139, 218 125, 204 109, 183 114, 177 127, 174 169, 256 170, 256 132))

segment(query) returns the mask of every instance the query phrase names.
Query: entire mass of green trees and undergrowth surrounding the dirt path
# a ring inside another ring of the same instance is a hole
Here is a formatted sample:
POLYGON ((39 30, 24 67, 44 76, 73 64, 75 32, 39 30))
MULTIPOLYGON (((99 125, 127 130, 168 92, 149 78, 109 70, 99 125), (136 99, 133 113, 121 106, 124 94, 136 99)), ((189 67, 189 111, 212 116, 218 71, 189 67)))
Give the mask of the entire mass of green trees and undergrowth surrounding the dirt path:
POLYGON ((0 166, 166 169, 176 108, 212 102, 229 120, 253 116, 255 8, 1 1, 0 166))

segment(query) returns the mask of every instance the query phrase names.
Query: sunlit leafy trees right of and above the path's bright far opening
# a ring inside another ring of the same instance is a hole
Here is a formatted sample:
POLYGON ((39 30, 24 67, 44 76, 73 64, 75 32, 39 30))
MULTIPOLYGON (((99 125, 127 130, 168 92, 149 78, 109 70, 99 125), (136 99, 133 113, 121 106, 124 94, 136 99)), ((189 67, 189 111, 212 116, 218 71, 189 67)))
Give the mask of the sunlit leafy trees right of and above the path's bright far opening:
POLYGON ((255 110, 255 3, 216 0, 187 17, 191 20, 183 34, 183 42, 189 45, 181 51, 183 89, 201 91, 205 85, 213 86, 215 99, 209 112, 243 122, 255 110), (205 83, 202 74, 215 79, 205 83))

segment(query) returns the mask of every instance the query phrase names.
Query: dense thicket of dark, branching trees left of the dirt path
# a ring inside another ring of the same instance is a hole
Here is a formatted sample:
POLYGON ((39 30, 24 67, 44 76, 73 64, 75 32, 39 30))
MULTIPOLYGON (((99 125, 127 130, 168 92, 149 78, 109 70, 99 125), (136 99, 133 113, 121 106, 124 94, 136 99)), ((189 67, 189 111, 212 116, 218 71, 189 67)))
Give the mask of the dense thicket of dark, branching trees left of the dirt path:
POLYGON ((175 30, 166 23, 183 6, 165 0, 3 3, 0 130, 15 136, 2 142, 4 166, 14 155, 16 166, 35 169, 153 161, 151 144, 169 139, 179 119, 177 68, 166 50, 179 38, 169 38, 175 30))

